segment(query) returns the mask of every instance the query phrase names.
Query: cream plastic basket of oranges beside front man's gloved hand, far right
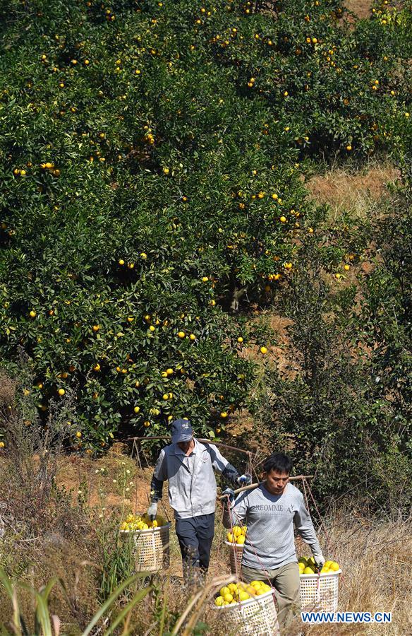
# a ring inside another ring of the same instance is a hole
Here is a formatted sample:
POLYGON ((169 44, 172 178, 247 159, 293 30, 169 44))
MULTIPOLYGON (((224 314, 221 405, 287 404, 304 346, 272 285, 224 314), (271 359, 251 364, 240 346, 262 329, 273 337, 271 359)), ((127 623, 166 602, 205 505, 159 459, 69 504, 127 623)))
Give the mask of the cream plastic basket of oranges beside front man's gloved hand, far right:
POLYGON ((301 578, 301 601, 303 609, 336 612, 338 608, 339 575, 341 568, 336 561, 326 561, 320 572, 316 572, 313 557, 298 559, 301 578))

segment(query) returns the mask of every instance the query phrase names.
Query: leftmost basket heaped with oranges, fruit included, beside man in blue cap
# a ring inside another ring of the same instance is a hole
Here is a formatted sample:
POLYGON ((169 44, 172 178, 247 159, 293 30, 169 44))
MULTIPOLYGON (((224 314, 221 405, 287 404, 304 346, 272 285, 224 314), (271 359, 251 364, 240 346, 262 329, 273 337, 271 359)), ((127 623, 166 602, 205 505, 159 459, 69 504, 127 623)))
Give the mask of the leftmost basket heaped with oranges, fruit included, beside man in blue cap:
POLYGON ((147 514, 128 514, 120 534, 133 540, 137 572, 159 572, 169 567, 170 526, 160 515, 150 521, 147 514))

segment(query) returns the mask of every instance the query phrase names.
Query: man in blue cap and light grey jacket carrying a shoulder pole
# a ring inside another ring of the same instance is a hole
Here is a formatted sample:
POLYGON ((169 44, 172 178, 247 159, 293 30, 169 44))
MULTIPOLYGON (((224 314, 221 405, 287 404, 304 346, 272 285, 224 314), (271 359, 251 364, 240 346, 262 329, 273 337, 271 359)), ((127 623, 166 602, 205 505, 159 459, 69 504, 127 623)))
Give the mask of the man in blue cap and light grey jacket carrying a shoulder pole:
POLYGON ((217 494, 214 470, 236 485, 252 482, 250 475, 239 475, 214 444, 196 440, 189 420, 175 420, 171 425, 171 444, 162 449, 154 468, 147 514, 150 519, 156 517, 163 482, 169 480, 169 502, 174 510, 186 582, 203 577, 209 567, 217 494))

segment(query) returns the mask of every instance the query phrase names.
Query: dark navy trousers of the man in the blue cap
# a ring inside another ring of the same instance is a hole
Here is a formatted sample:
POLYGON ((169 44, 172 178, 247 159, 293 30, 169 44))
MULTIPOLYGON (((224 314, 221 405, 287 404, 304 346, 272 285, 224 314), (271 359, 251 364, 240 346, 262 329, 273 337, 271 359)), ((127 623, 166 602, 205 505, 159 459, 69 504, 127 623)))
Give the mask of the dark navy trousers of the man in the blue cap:
POLYGON ((214 512, 199 517, 176 519, 176 534, 183 560, 186 582, 204 577, 209 567, 210 550, 214 536, 214 512))

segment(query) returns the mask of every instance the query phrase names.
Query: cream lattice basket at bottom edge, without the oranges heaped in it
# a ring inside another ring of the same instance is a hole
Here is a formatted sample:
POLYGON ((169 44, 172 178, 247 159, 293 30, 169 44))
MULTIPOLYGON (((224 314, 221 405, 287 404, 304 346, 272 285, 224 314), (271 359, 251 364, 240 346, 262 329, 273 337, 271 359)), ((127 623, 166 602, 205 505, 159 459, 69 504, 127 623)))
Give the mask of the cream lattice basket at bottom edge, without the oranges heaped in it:
POLYGON ((223 620, 236 626, 236 636, 279 636, 274 595, 268 591, 236 605, 213 606, 223 613, 223 620))

